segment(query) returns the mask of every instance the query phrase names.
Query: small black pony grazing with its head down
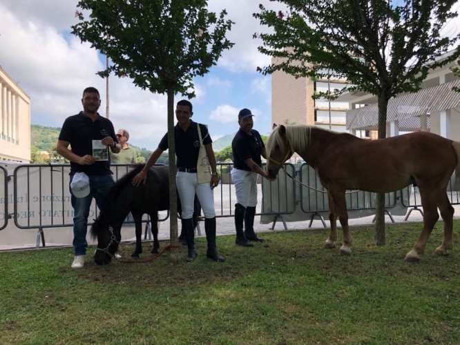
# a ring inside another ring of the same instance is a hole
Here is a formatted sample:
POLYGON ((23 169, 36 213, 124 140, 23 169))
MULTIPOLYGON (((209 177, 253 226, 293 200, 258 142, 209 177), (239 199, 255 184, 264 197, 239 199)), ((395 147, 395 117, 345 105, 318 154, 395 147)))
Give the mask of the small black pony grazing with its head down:
MULTIPOLYGON (((121 229, 124 219, 131 212, 135 221, 136 248, 131 254, 133 259, 139 259, 142 253, 142 215, 150 215, 153 234, 151 253, 157 254, 158 242, 158 211, 169 210, 169 166, 153 166, 147 173, 146 184, 133 186, 135 175, 144 168, 137 165, 133 170, 119 179, 109 191, 104 207, 93 226, 91 237, 97 238, 95 263, 109 264, 117 252, 122 239, 121 229)), ((195 199, 197 199, 195 197, 195 199)), ((180 213, 180 199, 178 197, 180 213)), ((193 213, 193 223, 198 223, 198 216, 193 213)))

